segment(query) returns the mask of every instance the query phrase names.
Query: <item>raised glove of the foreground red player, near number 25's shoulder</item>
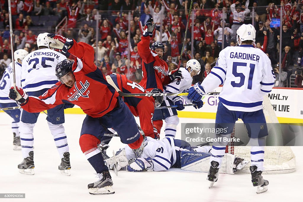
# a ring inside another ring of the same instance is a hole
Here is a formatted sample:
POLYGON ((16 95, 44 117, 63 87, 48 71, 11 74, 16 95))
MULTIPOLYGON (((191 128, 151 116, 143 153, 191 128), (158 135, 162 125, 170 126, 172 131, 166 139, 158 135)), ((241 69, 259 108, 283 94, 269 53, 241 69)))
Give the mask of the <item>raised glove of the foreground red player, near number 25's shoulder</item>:
POLYGON ((60 49, 64 53, 67 53, 68 49, 70 49, 74 43, 72 39, 65 38, 61 35, 48 34, 47 36, 49 40, 55 41, 55 43, 50 43, 49 47, 60 49))

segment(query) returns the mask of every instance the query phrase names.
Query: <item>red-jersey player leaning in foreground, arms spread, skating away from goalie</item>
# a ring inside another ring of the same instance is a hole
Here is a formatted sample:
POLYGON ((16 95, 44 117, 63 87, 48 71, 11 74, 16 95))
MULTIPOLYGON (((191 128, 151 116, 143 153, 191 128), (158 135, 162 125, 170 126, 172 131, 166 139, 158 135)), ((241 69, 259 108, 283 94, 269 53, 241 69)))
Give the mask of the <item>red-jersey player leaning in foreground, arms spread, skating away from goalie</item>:
POLYGON ((97 149, 107 128, 119 133, 121 141, 138 154, 142 153, 145 137, 138 131, 134 116, 105 76, 94 64, 92 46, 60 35, 49 34, 55 41, 50 47, 75 56, 75 62, 63 60, 56 66, 58 83, 41 96, 28 96, 22 88, 12 87, 9 98, 16 100, 28 112, 41 112, 62 103, 76 104, 86 118, 82 124, 79 144, 99 180, 88 184, 90 194, 114 194, 112 179, 102 154, 97 149), (127 120, 127 124, 125 124, 127 120))

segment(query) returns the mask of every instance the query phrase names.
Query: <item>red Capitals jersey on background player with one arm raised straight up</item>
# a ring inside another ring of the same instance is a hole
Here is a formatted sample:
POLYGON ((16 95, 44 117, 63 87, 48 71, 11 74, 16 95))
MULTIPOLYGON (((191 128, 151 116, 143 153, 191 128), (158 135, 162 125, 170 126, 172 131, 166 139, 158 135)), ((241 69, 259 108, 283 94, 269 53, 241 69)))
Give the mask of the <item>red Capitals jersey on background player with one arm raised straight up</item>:
POLYGON ((141 37, 138 52, 142 58, 142 80, 139 83, 147 91, 159 88, 163 91, 163 84, 168 78, 168 65, 149 48, 150 37, 141 37))

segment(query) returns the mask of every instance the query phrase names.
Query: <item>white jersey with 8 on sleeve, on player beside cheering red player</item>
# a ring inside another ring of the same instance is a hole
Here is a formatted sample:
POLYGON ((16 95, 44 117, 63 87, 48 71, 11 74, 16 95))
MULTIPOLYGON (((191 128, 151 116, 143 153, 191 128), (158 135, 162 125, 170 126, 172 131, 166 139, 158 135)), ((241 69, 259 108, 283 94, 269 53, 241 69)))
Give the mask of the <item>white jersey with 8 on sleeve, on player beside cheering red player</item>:
MULTIPOLYGON (((170 84, 167 84, 163 87, 165 93, 185 93, 188 92, 188 89, 191 87, 192 77, 186 68, 179 68, 182 74, 180 81, 174 80, 170 84)), ((168 99, 173 100, 176 96, 167 96, 168 99)), ((185 99, 186 103, 191 103, 186 96, 182 96, 185 99)))

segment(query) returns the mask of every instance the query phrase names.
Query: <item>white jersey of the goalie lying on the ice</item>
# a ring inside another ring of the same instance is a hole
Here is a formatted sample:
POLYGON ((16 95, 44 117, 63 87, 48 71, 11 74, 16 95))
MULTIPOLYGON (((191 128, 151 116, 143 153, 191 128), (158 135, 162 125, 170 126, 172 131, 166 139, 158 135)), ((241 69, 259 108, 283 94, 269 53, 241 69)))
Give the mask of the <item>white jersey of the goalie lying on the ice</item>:
MULTIPOLYGON (((147 145, 144 147, 140 157, 151 158, 154 165, 153 171, 166 171, 176 163, 176 149, 174 139, 165 137, 162 140, 155 140, 147 137, 147 145)), ((127 159, 136 158, 132 149, 126 145, 125 153, 127 159)))

